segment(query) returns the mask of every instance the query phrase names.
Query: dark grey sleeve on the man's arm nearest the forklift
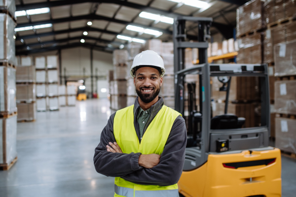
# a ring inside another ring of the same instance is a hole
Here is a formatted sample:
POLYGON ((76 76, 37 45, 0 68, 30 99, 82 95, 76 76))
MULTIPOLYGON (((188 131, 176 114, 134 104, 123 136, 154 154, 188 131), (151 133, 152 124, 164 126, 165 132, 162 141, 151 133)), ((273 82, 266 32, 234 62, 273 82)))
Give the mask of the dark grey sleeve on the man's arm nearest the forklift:
POLYGON ((164 146, 160 163, 149 169, 143 167, 121 178, 141 185, 169 186, 178 183, 185 161, 186 143, 185 120, 179 116, 164 146))

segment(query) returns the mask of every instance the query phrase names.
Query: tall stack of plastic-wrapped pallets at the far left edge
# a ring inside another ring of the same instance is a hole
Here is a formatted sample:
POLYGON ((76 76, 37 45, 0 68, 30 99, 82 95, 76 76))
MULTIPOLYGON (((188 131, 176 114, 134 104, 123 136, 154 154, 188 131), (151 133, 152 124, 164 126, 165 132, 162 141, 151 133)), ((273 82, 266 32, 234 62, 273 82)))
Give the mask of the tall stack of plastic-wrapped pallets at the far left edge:
POLYGON ((3 170, 17 160, 14 11, 14 0, 0 2, 0 168, 3 170))

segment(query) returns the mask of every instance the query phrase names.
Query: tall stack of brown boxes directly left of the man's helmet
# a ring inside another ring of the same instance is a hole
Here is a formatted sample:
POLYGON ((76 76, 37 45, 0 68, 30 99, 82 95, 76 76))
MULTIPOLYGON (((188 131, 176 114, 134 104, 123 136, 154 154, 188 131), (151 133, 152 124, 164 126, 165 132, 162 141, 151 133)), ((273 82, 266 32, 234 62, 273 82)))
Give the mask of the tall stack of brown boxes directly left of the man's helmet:
MULTIPOLYGON (((127 90, 128 81, 130 78, 128 63, 129 55, 127 50, 114 50, 113 51, 113 81, 110 81, 110 95, 112 110, 119 110, 127 107, 127 90)), ((132 64, 132 61, 130 61, 132 64)))

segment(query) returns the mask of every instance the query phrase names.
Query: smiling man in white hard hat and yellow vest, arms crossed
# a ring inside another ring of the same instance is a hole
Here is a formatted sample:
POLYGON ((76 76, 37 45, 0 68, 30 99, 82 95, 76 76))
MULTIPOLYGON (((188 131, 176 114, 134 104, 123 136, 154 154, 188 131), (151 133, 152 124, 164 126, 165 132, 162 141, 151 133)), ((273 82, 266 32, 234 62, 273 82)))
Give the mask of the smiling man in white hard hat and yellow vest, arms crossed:
POLYGON ((138 97, 110 116, 95 149, 97 172, 115 178, 114 197, 179 197, 186 128, 181 114, 158 97, 165 73, 154 51, 138 54, 130 69, 138 97))

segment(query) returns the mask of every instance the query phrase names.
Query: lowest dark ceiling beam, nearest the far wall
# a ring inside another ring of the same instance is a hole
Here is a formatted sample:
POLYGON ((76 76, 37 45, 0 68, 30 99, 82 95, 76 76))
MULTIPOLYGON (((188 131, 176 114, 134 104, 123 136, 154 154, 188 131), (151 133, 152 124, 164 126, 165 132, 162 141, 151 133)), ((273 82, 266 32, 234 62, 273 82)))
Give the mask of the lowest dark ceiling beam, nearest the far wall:
POLYGON ((73 43, 73 44, 67 44, 62 46, 50 46, 50 47, 43 47, 40 49, 33 49, 33 50, 25 50, 25 51, 16 51, 16 55, 29 55, 33 53, 42 53, 47 51, 54 51, 59 49, 68 49, 68 48, 74 48, 74 47, 85 47, 85 48, 93 48, 94 50, 103 51, 106 53, 112 53, 111 50, 106 50, 106 47, 97 46, 93 44, 87 44, 87 43, 73 43))

